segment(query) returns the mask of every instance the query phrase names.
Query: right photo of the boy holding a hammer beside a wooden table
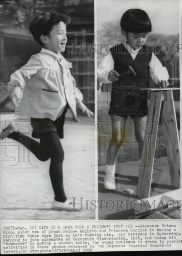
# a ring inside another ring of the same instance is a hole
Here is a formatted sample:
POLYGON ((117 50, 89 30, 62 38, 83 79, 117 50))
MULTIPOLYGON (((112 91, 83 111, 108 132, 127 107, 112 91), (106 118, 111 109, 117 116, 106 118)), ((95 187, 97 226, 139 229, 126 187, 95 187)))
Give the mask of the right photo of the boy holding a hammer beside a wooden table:
POLYGON ((179 2, 99 0, 95 15, 98 218, 180 219, 179 2))

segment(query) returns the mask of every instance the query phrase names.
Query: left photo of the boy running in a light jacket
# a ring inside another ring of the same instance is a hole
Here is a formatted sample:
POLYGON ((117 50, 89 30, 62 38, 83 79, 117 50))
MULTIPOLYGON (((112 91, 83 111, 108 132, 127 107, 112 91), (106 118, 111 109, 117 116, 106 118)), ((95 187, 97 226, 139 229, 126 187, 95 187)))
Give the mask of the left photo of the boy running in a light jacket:
POLYGON ((94 0, 0 2, 0 220, 95 219, 92 44, 94 0))

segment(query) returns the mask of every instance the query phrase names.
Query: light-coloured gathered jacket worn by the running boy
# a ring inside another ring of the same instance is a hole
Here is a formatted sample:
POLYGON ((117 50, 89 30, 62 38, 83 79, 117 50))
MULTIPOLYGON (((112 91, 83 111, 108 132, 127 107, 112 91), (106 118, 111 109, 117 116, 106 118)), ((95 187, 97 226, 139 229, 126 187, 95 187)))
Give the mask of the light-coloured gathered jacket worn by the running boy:
POLYGON ((67 116, 78 122, 76 103, 83 95, 71 75, 71 63, 60 54, 42 48, 26 65, 10 76, 12 100, 18 116, 56 120, 68 102, 67 116), (71 114, 71 116, 70 116, 71 114))

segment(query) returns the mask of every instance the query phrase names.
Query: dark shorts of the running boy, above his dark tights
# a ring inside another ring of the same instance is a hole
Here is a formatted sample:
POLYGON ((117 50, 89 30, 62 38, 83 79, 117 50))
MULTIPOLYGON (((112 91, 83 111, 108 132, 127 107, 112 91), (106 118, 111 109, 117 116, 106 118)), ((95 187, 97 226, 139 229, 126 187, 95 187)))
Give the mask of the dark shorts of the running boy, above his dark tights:
POLYGON ((32 124, 32 137, 40 138, 40 134, 42 132, 57 132, 60 139, 64 138, 64 121, 65 114, 68 109, 68 106, 64 109, 62 115, 56 119, 55 121, 50 120, 49 118, 39 119, 39 118, 31 118, 32 124))

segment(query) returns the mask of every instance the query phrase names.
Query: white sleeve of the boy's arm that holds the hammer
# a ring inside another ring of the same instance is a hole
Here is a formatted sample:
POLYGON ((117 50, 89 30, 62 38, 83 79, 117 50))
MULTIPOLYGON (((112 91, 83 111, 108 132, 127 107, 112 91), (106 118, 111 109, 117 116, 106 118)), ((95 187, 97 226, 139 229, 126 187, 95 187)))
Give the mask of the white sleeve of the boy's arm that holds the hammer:
POLYGON ((97 67, 97 78, 100 83, 110 84, 108 74, 114 69, 114 60, 112 54, 108 53, 97 67))

